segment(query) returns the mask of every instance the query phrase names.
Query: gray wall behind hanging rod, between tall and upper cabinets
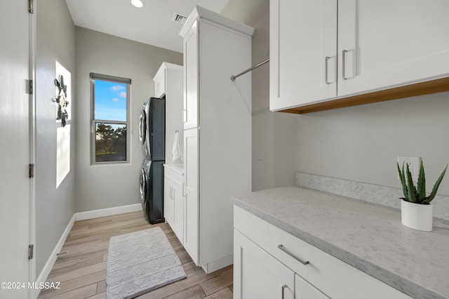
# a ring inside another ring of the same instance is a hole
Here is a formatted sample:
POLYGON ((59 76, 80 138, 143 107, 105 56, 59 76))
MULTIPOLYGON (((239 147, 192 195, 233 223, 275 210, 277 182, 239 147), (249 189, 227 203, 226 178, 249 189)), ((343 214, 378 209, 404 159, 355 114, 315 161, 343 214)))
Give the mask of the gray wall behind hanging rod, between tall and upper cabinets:
MULTIPOLYGON (((229 0, 221 14, 255 28, 253 65, 269 58, 269 0, 229 0)), ((236 74, 241 71, 243 69, 236 69, 236 74)), ((253 70, 251 75, 253 191, 293 185, 297 170, 297 117, 269 112, 269 63, 253 70)))

